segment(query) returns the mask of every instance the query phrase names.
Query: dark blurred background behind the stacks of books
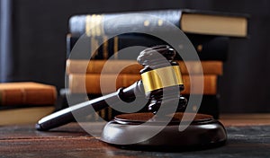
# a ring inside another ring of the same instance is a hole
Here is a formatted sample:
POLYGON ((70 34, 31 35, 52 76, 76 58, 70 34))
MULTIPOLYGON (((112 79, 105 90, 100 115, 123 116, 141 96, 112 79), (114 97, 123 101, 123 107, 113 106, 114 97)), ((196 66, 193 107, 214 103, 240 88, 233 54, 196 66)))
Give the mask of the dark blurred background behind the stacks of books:
POLYGON ((36 81, 64 87, 71 15, 169 8, 250 15, 248 38, 229 41, 229 58, 220 78, 220 111, 270 112, 268 0, 1 0, 1 82, 36 81))

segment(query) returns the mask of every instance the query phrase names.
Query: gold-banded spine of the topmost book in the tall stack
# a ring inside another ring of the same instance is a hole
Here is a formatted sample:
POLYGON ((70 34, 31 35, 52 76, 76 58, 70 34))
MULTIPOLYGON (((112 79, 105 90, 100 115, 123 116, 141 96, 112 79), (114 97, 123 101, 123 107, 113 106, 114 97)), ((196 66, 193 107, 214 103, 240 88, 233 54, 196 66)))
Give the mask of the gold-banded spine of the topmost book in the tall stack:
POLYGON ((87 35, 102 35, 102 34, 120 34, 121 32, 145 32, 155 31, 157 26, 165 25, 164 28, 170 31, 169 27, 166 27, 166 20, 170 24, 175 24, 180 28, 181 10, 164 10, 164 11, 145 11, 136 12, 153 15, 156 18, 150 18, 145 20, 145 16, 136 16, 130 14, 132 21, 127 21, 128 14, 121 16, 123 13, 106 13, 106 14, 84 14, 74 15, 69 19, 69 31, 73 35, 81 36, 84 33, 87 35), (130 26, 137 27, 130 27, 130 26), (93 29, 94 28, 94 29, 93 29))

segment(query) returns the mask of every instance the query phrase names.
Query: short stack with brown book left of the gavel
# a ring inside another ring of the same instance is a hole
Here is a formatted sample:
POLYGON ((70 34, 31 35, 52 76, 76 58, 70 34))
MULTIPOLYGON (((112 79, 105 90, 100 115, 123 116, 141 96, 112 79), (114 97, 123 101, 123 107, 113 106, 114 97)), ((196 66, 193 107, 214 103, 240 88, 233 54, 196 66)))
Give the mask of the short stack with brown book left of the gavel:
POLYGON ((36 123, 53 112, 56 88, 43 83, 0 83, 0 126, 36 123))

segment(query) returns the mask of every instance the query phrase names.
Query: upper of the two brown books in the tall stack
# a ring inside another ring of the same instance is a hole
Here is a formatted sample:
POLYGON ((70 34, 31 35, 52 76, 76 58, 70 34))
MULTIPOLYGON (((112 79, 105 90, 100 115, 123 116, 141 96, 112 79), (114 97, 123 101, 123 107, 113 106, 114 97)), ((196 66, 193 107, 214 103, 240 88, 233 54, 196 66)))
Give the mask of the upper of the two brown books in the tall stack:
MULTIPOLYGON (((200 65, 204 75, 222 75, 223 64, 221 61, 177 61, 182 75, 200 74, 200 65), (191 67, 190 72, 186 66, 191 67)), ((135 60, 76 60, 67 59, 67 74, 139 74, 143 66, 135 60)))

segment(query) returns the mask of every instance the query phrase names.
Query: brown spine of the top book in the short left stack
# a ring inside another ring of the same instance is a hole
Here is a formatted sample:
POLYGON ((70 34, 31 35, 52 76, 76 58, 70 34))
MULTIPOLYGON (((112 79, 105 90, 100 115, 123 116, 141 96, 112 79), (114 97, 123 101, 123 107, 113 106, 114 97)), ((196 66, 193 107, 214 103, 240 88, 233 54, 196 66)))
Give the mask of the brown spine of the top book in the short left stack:
POLYGON ((0 91, 0 106, 54 105, 56 89, 12 89, 0 91))

